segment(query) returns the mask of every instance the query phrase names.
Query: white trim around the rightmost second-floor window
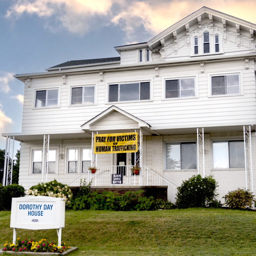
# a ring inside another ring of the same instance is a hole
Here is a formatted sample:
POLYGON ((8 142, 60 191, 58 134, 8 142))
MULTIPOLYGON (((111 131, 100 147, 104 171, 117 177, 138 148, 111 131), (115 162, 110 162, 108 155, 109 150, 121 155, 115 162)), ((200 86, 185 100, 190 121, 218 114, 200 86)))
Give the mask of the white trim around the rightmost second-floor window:
POLYGON ((227 71, 227 72, 213 72, 213 73, 208 73, 207 76, 208 76, 208 98, 232 97, 232 96, 234 97, 234 96, 242 96, 242 95, 244 95, 243 72, 241 70, 239 70, 239 71, 227 71), (223 76, 223 75, 239 75, 240 93, 212 95, 212 79, 211 79, 211 77, 223 76))

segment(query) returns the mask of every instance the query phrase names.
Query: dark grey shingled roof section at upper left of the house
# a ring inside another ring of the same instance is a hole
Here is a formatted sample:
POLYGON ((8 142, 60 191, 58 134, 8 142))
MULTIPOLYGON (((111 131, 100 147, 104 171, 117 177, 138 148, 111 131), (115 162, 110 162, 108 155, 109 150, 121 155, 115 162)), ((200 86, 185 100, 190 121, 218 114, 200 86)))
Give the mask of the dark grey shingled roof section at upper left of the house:
POLYGON ((111 57, 111 58, 102 58, 102 59, 89 59, 89 60, 70 60, 67 62, 63 62, 56 66, 52 66, 49 69, 56 69, 56 68, 63 68, 63 67, 70 67, 70 66, 81 66, 81 65, 88 65, 88 64, 98 64, 98 63, 107 63, 107 62, 119 62, 120 57, 111 57))

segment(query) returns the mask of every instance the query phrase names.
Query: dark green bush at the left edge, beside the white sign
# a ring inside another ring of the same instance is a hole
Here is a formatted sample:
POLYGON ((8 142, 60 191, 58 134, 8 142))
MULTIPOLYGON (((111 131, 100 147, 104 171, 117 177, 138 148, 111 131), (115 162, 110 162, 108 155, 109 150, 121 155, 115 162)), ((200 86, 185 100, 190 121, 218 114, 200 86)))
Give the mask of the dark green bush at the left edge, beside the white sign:
POLYGON ((24 187, 18 184, 11 184, 7 186, 0 185, 0 211, 11 210, 12 197, 25 196, 24 187))

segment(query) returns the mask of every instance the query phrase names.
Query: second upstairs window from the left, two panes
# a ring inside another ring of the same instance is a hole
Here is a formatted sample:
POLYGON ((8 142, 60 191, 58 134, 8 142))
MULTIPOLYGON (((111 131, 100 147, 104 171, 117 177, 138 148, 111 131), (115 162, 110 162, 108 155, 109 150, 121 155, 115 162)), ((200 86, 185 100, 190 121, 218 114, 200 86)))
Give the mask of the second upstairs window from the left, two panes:
POLYGON ((95 86, 71 88, 71 105, 94 103, 95 86))

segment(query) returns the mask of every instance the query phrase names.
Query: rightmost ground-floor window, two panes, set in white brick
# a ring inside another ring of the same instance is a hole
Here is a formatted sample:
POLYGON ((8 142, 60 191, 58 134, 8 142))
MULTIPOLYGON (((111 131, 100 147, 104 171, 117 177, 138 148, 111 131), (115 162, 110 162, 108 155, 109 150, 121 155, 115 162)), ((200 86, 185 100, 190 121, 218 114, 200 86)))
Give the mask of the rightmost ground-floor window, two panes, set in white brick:
POLYGON ((212 142, 213 168, 244 168, 244 141, 212 142))

